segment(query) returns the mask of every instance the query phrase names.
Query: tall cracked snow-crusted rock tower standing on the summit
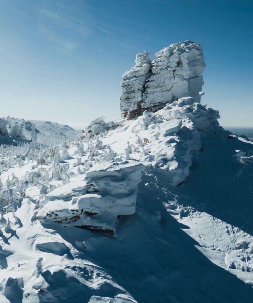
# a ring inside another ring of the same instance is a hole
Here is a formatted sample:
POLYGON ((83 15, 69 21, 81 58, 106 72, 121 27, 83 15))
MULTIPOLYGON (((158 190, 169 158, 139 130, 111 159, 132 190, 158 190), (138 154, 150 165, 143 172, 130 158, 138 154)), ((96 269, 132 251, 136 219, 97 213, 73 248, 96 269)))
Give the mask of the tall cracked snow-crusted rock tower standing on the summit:
POLYGON ((147 52, 136 55, 136 65, 122 76, 120 109, 123 118, 156 112, 182 97, 200 102, 205 68, 200 44, 179 42, 163 48, 150 63, 147 52))

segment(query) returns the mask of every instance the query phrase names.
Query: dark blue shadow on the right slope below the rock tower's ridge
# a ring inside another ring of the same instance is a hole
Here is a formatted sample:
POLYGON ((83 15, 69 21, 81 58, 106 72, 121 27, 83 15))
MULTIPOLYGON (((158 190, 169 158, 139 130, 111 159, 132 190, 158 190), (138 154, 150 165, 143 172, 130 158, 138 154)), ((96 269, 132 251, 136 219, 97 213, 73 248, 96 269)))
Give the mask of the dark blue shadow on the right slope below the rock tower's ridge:
POLYGON ((253 236, 253 163, 242 162, 238 152, 253 155, 253 145, 228 137, 203 135, 202 150, 193 158, 189 176, 171 191, 181 196, 182 205, 253 236))

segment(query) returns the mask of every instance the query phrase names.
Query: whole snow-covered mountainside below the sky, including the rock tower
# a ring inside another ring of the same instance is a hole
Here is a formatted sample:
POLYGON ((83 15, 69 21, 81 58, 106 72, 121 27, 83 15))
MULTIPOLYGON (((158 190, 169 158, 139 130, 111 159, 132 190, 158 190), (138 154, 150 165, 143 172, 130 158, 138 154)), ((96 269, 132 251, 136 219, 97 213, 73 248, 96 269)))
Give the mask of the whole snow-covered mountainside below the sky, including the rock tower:
POLYGON ((200 103, 204 67, 191 41, 136 55, 122 118, 74 140, 0 120, 27 138, 0 146, 1 303, 252 302, 253 142, 200 103))

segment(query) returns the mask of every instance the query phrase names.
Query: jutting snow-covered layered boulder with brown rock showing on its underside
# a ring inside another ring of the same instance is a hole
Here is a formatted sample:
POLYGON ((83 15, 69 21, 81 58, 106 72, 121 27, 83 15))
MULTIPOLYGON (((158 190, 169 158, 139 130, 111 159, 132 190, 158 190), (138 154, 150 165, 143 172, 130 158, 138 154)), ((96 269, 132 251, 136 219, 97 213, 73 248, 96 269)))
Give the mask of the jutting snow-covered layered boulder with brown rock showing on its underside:
POLYGON ((37 218, 47 224, 73 223, 78 228, 114 235, 117 217, 135 213, 143 168, 136 161, 98 163, 86 172, 83 182, 69 182, 47 194, 54 201, 49 201, 37 218))

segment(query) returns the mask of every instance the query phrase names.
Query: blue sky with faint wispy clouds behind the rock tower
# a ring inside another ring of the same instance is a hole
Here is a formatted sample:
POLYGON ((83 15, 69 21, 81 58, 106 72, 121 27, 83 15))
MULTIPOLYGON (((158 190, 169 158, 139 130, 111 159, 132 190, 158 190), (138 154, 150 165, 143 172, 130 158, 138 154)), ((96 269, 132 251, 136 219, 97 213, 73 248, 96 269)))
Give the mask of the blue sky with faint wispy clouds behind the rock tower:
POLYGON ((82 128, 120 118, 137 53, 201 43, 202 103, 253 127, 252 0, 0 0, 0 116, 82 128))

